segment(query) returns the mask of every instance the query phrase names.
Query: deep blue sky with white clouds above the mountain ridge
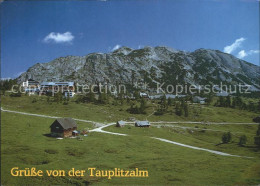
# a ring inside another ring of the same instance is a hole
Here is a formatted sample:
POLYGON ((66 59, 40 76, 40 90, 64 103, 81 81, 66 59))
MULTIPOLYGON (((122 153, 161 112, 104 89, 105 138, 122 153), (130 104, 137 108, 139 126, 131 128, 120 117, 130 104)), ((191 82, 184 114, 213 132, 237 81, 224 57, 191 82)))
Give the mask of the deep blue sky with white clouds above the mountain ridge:
POLYGON ((1 3, 1 76, 116 46, 217 49, 259 65, 258 0, 1 3))

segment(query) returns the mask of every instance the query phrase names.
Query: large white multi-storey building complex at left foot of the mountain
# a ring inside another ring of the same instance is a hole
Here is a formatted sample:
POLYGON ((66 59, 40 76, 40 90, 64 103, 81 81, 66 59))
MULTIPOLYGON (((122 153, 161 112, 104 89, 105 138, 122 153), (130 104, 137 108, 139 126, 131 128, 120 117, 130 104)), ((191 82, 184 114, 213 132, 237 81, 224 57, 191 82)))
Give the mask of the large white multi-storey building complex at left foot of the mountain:
POLYGON ((22 87, 28 94, 45 95, 48 93, 64 93, 65 97, 73 97, 75 95, 74 82, 38 82, 28 79, 22 83, 22 87))

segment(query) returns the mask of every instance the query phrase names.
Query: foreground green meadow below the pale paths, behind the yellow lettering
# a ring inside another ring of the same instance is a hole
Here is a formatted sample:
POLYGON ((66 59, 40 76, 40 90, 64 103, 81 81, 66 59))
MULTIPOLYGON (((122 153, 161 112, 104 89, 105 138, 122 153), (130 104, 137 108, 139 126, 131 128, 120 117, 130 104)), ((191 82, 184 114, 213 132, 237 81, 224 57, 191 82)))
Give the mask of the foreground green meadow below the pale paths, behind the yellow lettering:
MULTIPOLYGON (((185 184, 185 185, 232 185, 259 184, 259 154, 253 159, 226 157, 204 151, 197 151, 148 138, 149 135, 164 136, 190 144, 202 140, 191 135, 180 136, 166 129, 122 128, 132 131, 132 136, 114 136, 90 133, 77 139, 57 140, 46 137, 53 119, 2 113, 2 159, 1 174, 3 185, 60 184, 185 184), (149 132, 147 132, 149 130, 149 132), (167 135, 167 136, 166 136, 167 135), (194 142, 193 142, 194 141, 194 142), (10 169, 36 167, 37 169, 145 169, 148 178, 97 178, 97 177, 12 177, 10 169)), ((79 128, 91 127, 79 123, 79 128)), ((112 129, 112 127, 111 127, 112 129)), ((110 130, 110 129, 109 129, 110 130)), ((242 129, 243 130, 243 129, 242 129)), ((251 131, 251 129, 250 129, 251 131)), ((252 129, 253 131, 253 129, 252 129)), ((130 133, 130 132, 129 132, 130 133)), ((206 132, 207 134, 207 132, 206 132)), ((209 138, 211 141, 211 138, 209 138)), ((197 143, 198 144, 198 143, 197 143)), ((230 146, 234 146, 230 144, 230 146)), ((209 147, 209 146, 208 146, 209 147)), ((238 147, 237 147, 238 148, 238 147)), ((235 153, 235 149, 233 149, 235 153)), ((236 152, 238 153, 238 152, 236 152)), ((239 152, 240 153, 240 152, 239 152)), ((251 152, 253 155, 255 152, 251 152)), ((242 154, 242 151, 241 151, 242 154)))

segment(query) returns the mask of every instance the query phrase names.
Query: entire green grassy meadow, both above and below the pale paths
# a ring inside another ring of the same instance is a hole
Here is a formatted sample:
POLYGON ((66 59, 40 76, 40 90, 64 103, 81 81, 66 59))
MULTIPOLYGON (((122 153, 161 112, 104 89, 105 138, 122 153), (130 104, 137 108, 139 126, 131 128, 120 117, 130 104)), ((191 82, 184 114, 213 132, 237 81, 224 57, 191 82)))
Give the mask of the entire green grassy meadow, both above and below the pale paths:
MULTIPOLYGON (((191 105, 199 114, 190 112, 189 117, 174 113, 174 107, 161 116, 152 115, 157 102, 147 103, 146 114, 129 114, 129 104, 97 105, 92 103, 69 104, 47 102, 45 96, 22 96, 1 98, 4 109, 45 114, 60 117, 73 117, 102 123, 115 122, 129 117, 150 121, 212 121, 212 122, 252 122, 258 113, 214 106, 191 105)), ((51 118, 26 116, 15 113, 1 113, 1 179, 3 185, 256 185, 260 183, 259 149, 253 144, 256 125, 206 125, 206 124, 167 124, 151 128, 110 126, 104 130, 125 133, 129 136, 92 132, 82 141, 47 137, 51 118), (183 128, 188 127, 188 128, 183 128), (230 131, 232 142, 220 144, 224 132, 230 131), (241 135, 248 142, 239 146, 241 135), (205 151, 189 149, 152 139, 161 137, 196 147, 217 150, 244 157, 228 157, 205 151), (107 178, 90 177, 12 177, 13 167, 49 170, 71 168, 87 170, 135 168, 149 171, 148 178, 107 178)), ((91 123, 77 122, 78 128, 91 129, 91 123)))

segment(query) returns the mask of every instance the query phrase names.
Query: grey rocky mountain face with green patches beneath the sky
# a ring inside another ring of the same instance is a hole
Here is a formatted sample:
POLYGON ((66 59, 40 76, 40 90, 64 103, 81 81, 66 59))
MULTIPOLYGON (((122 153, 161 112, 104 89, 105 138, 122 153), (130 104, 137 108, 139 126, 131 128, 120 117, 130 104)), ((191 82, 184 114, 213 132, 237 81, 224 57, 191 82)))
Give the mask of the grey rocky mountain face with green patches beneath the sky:
POLYGON ((250 84, 259 89, 260 67, 218 50, 184 52, 168 47, 134 50, 122 47, 111 53, 60 57, 37 63, 18 77, 37 81, 74 81, 78 83, 124 83, 145 81, 193 85, 250 84))

